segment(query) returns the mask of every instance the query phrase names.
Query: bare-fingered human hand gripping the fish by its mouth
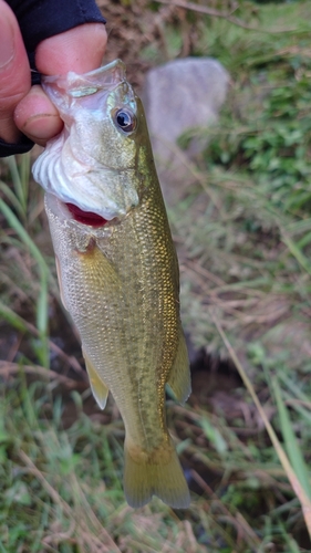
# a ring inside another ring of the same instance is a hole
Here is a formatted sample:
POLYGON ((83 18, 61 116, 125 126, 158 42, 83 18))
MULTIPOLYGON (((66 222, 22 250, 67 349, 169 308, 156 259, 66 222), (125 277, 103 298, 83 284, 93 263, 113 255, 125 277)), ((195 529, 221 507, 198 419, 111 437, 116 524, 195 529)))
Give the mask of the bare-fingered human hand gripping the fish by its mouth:
MULTIPOLYGON (((44 75, 86 73, 97 69, 106 48, 102 23, 85 23, 39 43, 35 65, 44 75)), ((0 138, 19 140, 21 133, 45 145, 62 121, 42 87, 31 86, 31 72, 15 15, 0 0, 0 138)))

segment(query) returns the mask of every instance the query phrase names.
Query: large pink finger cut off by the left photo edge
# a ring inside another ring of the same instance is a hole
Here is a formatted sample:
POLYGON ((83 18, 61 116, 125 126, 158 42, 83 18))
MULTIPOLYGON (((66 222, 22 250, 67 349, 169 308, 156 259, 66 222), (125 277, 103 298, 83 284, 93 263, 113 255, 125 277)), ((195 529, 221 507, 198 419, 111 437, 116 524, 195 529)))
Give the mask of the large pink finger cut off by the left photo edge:
POLYGON ((30 67, 17 19, 7 2, 0 0, 0 137, 8 143, 19 139, 13 113, 30 86, 30 67))

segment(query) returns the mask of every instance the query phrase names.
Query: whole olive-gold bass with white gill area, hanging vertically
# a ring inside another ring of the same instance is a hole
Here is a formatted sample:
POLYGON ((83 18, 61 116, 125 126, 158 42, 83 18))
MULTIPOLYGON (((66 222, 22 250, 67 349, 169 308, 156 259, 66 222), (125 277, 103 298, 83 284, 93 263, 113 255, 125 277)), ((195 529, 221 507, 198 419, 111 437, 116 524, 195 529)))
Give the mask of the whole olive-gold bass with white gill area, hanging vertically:
POLYGON ((33 166, 45 190, 61 299, 76 326, 101 409, 112 393, 125 427, 124 492, 176 509, 189 489, 166 424, 190 372, 179 269, 141 100, 116 60, 43 77, 64 122, 33 166))

